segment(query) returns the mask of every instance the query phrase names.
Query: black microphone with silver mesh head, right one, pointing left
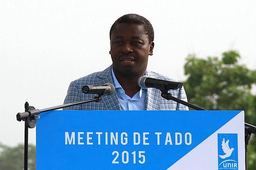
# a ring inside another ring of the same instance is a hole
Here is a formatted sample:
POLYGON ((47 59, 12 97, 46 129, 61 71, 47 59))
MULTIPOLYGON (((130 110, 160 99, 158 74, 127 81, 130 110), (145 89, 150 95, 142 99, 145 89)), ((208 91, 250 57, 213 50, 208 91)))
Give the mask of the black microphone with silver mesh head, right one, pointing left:
POLYGON ((159 80, 155 78, 150 78, 148 76, 141 76, 138 79, 138 85, 143 89, 153 87, 159 90, 177 90, 178 88, 182 87, 183 83, 167 81, 167 80, 159 80))

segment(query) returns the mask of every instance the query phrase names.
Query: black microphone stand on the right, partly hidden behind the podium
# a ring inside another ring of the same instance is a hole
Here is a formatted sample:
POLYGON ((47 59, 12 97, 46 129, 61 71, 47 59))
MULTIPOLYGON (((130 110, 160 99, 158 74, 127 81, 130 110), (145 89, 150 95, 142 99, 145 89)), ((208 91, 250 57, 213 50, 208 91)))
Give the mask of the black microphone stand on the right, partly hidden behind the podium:
MULTIPOLYGON (((180 104, 183 104, 185 106, 188 106, 188 107, 191 107, 195 110, 206 110, 204 108, 201 108, 201 107, 198 107, 196 105, 193 105, 191 103, 188 103, 186 101, 183 101, 183 100, 180 100, 176 97, 173 97, 171 93, 168 93, 168 90, 169 89, 164 89, 164 90, 161 90, 161 96, 164 98, 164 99, 167 99, 167 100, 173 100, 173 101, 176 101, 180 104)), ((176 90, 176 89, 174 89, 176 90)), ((245 129, 245 170, 247 170, 247 152, 248 152, 248 143, 249 143, 249 139, 251 137, 251 133, 254 133, 256 134, 256 126, 253 126, 249 123, 244 123, 244 129, 245 129)))

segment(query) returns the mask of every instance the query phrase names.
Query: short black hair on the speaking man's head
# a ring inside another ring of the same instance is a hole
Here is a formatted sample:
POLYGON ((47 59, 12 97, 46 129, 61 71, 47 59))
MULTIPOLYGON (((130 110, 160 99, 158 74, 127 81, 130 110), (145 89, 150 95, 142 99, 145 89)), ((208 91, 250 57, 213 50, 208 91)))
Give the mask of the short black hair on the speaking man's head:
POLYGON ((138 15, 138 14, 126 14, 118 18, 110 28, 109 38, 111 40, 111 34, 116 26, 119 23, 127 24, 138 24, 143 25, 146 34, 148 35, 149 43, 154 41, 154 29, 148 19, 138 15))

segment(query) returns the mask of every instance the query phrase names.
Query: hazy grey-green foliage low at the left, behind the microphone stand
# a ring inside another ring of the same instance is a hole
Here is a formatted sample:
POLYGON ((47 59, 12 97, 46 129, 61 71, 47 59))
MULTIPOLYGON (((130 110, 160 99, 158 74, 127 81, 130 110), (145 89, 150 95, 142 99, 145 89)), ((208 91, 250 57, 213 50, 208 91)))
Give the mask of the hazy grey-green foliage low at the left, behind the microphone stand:
MULTIPOLYGON (((10 147, 0 143, 0 169, 24 169, 24 144, 10 147)), ((36 170, 36 146, 28 145, 28 169, 36 170)))

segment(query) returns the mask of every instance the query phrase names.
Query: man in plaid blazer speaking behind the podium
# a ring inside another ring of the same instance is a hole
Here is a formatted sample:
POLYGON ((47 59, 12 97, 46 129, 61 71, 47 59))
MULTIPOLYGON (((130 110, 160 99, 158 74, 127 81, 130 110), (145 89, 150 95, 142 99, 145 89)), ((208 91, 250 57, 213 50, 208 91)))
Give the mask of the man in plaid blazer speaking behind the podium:
MULTIPOLYGON (((92 73, 70 83, 64 103, 93 98, 84 94, 84 85, 112 83, 116 91, 102 96, 102 101, 85 103, 63 110, 188 110, 188 107, 166 100, 155 88, 141 89, 138 78, 174 81, 155 72, 146 70, 148 55, 153 55, 154 30, 151 23, 137 14, 118 18, 110 29, 110 51, 113 64, 104 71, 92 73)), ((187 101, 184 88, 169 91, 172 96, 187 101)))

